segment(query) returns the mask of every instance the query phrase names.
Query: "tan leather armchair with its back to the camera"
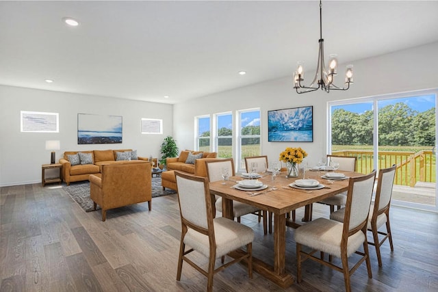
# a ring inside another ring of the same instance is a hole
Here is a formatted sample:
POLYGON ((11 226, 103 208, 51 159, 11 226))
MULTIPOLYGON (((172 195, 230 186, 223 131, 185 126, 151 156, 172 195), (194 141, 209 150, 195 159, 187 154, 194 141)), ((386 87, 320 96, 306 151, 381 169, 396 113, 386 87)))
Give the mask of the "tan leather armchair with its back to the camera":
POLYGON ((102 221, 109 209, 148 202, 152 208, 151 163, 148 161, 118 161, 101 164, 101 177, 90 175, 90 197, 102 209, 102 221))

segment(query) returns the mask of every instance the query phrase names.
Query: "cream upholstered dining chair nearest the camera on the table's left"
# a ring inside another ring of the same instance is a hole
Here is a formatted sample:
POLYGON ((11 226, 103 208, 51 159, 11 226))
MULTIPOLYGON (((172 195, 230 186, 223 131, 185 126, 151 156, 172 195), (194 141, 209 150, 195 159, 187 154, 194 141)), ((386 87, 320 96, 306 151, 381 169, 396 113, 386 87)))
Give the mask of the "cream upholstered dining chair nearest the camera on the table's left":
POLYGON ((175 171, 175 179, 181 214, 177 280, 181 280, 181 270, 185 261, 207 277, 207 291, 212 291, 214 274, 244 258, 248 261, 249 278, 253 278, 253 230, 224 217, 213 217, 213 202, 207 178, 175 171), (190 249, 185 250, 185 245, 190 246, 190 249), (225 256, 244 245, 246 252, 243 252, 242 256, 215 269, 216 258, 225 256), (194 250, 209 258, 207 270, 187 257, 187 254, 194 250))

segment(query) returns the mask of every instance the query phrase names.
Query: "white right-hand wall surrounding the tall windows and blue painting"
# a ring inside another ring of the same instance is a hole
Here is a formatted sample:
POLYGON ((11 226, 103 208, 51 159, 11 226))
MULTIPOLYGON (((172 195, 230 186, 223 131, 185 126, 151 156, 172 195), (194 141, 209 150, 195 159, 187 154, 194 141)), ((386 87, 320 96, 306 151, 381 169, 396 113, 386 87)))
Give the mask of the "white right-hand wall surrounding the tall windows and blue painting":
MULTIPOLYGON (((194 116, 261 108, 261 153, 270 161, 277 160, 286 147, 302 147, 309 152, 309 162, 317 163, 326 154, 327 102, 380 94, 438 88, 438 42, 422 47, 380 55, 355 62, 355 83, 345 92, 312 92, 296 94, 291 77, 266 81, 177 104, 174 107, 173 133, 179 148, 194 148, 194 116), (313 105, 313 142, 268 142, 268 110, 313 105)), ((315 55, 315 58, 317 55, 315 55)), ((339 58, 342 56, 339 56, 339 58)), ((297 56, 298 58, 298 56, 297 56)), ((315 59, 316 62, 316 59, 315 59)), ((345 64, 339 66, 343 81, 345 64)), ((251 74, 251 72, 248 72, 251 74)), ((305 84, 314 73, 307 72, 305 84)))

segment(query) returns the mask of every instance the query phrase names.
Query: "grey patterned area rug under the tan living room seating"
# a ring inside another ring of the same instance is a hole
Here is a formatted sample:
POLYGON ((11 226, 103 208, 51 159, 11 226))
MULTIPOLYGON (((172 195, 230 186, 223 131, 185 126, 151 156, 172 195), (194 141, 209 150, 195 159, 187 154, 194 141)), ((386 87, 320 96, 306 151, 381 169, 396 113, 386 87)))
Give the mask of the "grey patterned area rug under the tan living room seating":
MULTIPOLYGON (((77 183, 70 183, 66 185, 63 189, 67 194, 75 201, 81 208, 86 212, 94 211, 93 201, 90 198, 90 182, 80 181, 77 183)), ((166 189, 163 191, 162 178, 160 176, 152 178, 152 198, 159 196, 166 196, 170 194, 175 194, 176 191, 172 189, 166 189)), ((101 209, 99 205, 97 209, 101 209)))

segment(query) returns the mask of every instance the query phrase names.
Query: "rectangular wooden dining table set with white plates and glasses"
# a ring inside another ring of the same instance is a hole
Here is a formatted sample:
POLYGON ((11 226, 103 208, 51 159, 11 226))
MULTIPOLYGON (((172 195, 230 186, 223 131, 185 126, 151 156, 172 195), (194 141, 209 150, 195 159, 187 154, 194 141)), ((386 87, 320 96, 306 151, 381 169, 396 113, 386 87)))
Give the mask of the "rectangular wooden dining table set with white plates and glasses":
MULTIPOLYGON (((342 172, 342 171, 338 171, 342 172)), ((358 172, 342 172, 348 177, 361 176, 358 172)), ((268 185, 268 188, 259 191, 242 191, 235 189, 237 181, 244 178, 240 176, 231 176, 229 181, 216 181, 209 183, 211 195, 222 197, 222 216, 230 219, 233 218, 233 201, 250 204, 263 211, 269 211, 274 215, 274 266, 261 261, 259 258, 253 257, 253 269, 259 274, 271 280, 279 287, 289 287, 294 283, 294 277, 285 271, 285 229, 286 226, 296 228, 300 226, 296 222, 287 219, 286 214, 300 207, 306 207, 307 211, 311 212, 311 204, 318 202, 324 198, 335 196, 348 189, 348 179, 344 180, 327 180, 321 178, 325 172, 307 171, 306 178, 313 178, 318 181, 324 188, 322 189, 296 189, 289 187, 298 178, 286 178, 285 172, 276 176, 276 180, 272 181, 271 174, 263 174, 258 178, 263 184, 268 185), (225 184, 223 184, 225 183, 225 184), (257 196, 250 196, 256 193, 257 196)), ((302 177, 301 177, 302 178, 302 177)), ((266 219, 264 219, 266 220, 266 219)), ((237 250, 231 256, 239 256, 242 251, 237 250)))

